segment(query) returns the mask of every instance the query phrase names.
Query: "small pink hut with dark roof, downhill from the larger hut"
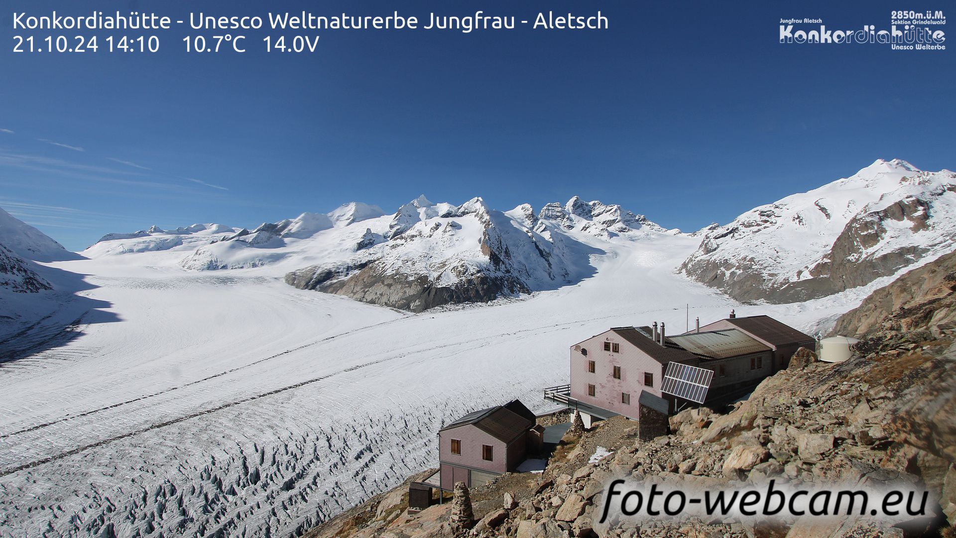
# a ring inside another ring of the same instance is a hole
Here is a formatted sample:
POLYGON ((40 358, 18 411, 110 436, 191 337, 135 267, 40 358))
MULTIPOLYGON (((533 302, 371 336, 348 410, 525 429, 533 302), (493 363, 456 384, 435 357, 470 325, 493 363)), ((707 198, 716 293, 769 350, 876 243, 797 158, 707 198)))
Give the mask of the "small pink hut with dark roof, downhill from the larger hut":
POLYGON ((539 446, 543 429, 519 400, 469 413, 438 433, 440 487, 454 489, 455 482, 468 487, 513 471, 539 446))

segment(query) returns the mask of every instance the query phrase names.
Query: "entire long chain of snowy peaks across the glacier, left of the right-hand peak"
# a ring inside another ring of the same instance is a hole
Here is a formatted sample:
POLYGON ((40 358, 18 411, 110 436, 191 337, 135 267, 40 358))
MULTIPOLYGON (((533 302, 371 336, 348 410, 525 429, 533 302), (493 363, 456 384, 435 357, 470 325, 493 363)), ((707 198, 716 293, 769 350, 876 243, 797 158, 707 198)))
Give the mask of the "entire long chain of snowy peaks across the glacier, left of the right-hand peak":
POLYGON ((253 230, 154 226, 105 235, 83 254, 169 251, 195 271, 288 267, 285 280, 298 288, 422 311, 554 289, 593 274, 589 256, 602 251, 577 233, 607 240, 667 231, 620 206, 577 197, 535 214, 527 204, 500 212, 481 198, 454 205, 422 195, 390 215, 352 202, 253 230))

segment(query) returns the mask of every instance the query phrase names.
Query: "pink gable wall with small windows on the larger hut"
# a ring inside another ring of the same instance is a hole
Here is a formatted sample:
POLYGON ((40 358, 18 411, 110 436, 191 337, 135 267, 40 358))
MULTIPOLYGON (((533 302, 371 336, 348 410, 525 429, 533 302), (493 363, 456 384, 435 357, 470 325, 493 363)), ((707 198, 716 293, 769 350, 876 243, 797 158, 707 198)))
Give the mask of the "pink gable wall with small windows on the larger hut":
POLYGON ((580 351, 571 348, 571 397, 585 403, 596 405, 624 415, 629 418, 638 418, 638 398, 641 391, 651 392, 661 396, 661 382, 663 381, 663 366, 652 359, 638 347, 619 337, 614 331, 608 330, 597 336, 581 342, 579 346, 587 349, 585 356, 580 351), (620 352, 604 350, 604 342, 620 345, 620 352), (588 371, 588 361, 595 361, 594 373, 588 371), (614 367, 620 367, 620 379, 614 378, 614 367), (645 387, 644 372, 654 374, 653 387, 645 387), (595 385, 595 396, 588 395, 588 384, 595 385), (631 404, 620 402, 620 393, 631 394, 631 404))

